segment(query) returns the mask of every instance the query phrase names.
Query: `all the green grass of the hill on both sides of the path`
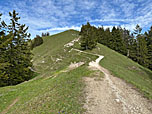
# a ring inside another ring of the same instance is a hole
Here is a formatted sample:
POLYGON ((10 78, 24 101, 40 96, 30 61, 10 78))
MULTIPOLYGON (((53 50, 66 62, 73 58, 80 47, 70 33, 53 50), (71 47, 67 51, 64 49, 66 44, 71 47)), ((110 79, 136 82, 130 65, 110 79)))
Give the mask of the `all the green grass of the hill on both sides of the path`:
MULTIPOLYGON (((72 47, 79 48, 78 43, 69 48, 64 46, 78 38, 78 34, 78 31, 69 30, 44 37, 44 43, 33 50, 33 63, 38 75, 22 84, 0 88, 0 112, 81 114, 85 87, 83 77, 94 73, 87 66, 97 57, 71 51, 72 47), (78 62, 85 64, 69 70, 71 63, 78 62)), ((152 71, 101 44, 90 52, 104 55, 100 62, 103 67, 152 98, 152 71)))

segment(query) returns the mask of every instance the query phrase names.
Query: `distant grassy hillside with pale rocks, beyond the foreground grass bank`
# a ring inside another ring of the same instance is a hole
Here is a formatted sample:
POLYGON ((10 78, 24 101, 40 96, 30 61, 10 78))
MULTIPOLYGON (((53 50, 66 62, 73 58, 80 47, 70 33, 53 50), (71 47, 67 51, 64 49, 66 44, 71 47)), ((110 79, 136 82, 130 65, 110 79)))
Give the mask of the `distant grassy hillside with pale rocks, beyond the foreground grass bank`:
POLYGON ((78 38, 78 34, 78 31, 68 30, 53 36, 44 37, 44 43, 33 50, 33 62, 36 71, 45 77, 53 74, 56 70, 60 71, 66 68, 71 62, 88 61, 85 55, 79 55, 73 51, 69 53, 72 47, 64 47, 65 44, 78 38))

